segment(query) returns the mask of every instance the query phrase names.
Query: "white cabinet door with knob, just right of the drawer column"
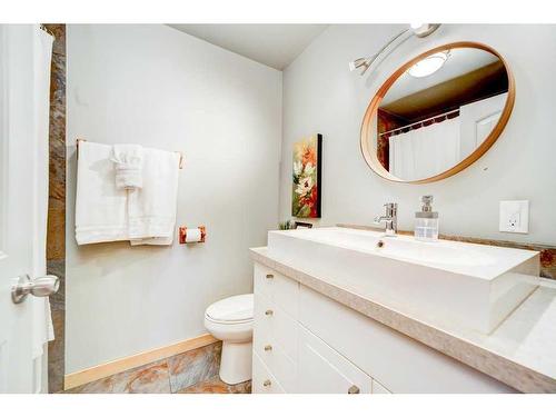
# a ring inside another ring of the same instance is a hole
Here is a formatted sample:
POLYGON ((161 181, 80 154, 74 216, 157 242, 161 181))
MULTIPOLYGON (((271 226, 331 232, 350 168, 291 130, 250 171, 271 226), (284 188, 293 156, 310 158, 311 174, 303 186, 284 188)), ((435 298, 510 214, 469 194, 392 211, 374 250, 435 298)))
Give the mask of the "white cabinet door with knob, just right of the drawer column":
POLYGON ((299 326, 298 393, 370 394, 373 379, 309 330, 299 326))

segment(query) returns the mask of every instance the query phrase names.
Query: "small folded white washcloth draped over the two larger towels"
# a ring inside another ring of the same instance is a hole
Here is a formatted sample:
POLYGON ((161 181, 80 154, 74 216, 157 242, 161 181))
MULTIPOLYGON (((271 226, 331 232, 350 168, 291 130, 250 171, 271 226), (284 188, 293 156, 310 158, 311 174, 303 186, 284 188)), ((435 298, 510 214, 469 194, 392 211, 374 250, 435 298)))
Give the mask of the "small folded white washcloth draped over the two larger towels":
POLYGON ((142 147, 140 145, 115 145, 111 159, 116 168, 116 188, 126 190, 142 188, 142 147))

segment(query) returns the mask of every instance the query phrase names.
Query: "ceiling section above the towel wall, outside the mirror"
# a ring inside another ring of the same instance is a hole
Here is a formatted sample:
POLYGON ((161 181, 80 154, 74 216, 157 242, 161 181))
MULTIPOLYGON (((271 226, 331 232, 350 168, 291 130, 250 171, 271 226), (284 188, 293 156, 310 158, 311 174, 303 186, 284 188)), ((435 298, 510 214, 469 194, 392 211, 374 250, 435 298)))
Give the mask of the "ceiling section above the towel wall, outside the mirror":
POLYGON ((185 33, 282 70, 327 24, 169 24, 185 33))

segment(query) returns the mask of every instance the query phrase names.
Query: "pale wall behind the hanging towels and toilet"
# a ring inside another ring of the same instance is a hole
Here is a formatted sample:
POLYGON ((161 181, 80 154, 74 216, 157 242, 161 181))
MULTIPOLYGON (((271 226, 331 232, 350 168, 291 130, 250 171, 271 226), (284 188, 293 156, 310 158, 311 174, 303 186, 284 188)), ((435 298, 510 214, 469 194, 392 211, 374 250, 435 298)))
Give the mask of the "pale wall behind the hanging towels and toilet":
POLYGON ((248 248, 278 220, 281 72, 165 26, 68 26, 66 373, 206 332, 251 291, 248 248), (77 247, 75 140, 186 155, 178 225, 205 245, 77 247))

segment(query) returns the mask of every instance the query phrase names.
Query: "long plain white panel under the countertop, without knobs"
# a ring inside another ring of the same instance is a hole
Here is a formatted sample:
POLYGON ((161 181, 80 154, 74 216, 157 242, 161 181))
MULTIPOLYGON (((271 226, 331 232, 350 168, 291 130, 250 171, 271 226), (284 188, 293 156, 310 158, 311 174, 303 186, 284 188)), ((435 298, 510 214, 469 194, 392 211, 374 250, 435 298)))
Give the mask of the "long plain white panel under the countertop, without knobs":
MULTIPOLYGON (((305 286, 299 321, 393 393, 515 393, 489 376, 305 286)), ((301 358, 299 357, 299 364, 301 358)))

